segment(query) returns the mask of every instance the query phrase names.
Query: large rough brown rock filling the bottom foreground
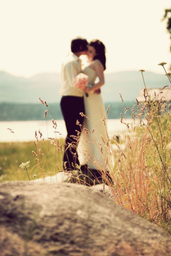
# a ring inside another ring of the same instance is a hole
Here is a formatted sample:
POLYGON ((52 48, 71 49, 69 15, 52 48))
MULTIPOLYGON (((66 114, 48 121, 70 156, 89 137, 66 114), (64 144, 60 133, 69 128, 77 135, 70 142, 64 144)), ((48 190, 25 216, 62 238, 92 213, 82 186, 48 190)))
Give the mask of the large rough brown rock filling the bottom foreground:
POLYGON ((1 256, 169 256, 170 236, 93 188, 0 184, 1 256))

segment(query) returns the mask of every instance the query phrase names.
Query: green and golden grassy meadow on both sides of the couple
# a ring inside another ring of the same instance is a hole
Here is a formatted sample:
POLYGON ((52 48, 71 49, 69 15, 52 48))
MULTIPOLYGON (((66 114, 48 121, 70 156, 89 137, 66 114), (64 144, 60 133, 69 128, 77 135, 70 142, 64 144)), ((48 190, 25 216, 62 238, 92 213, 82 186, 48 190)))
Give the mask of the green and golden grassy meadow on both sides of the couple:
MULTIPOLYGON (((164 65, 161 63, 163 68, 164 65)), ((144 81, 144 70, 140 72, 144 81)), ((168 79, 170 81, 169 76, 168 79)), ((109 159, 106 158, 106 165, 100 172, 117 204, 171 234, 171 104, 166 111, 163 89, 160 100, 155 101, 148 94, 144 81, 144 101, 136 101, 132 107, 127 107, 121 96, 124 114, 130 112, 132 123, 127 123, 121 114, 120 121, 126 126, 126 131, 120 138, 108 138, 106 146, 114 159, 114 165, 108 166, 112 182, 105 177, 109 159)), ((109 111, 108 107, 107 117, 109 111)), ((56 129, 55 121, 52 123, 56 129)), ((35 142, 1 143, 0 181, 33 180, 57 173, 63 169, 63 146, 62 139, 42 140, 41 132, 35 134, 35 142)), ((98 160, 96 162, 99 169, 98 160)))

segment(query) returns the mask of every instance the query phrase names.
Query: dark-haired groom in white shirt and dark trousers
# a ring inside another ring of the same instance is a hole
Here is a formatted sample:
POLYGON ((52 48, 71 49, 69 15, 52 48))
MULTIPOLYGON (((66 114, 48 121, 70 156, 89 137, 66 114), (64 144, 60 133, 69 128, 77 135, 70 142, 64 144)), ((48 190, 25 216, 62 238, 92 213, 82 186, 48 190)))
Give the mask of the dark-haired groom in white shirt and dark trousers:
POLYGON ((81 125, 83 124, 84 117, 80 113, 85 113, 84 91, 74 88, 73 80, 81 73, 81 60, 79 57, 86 54, 87 44, 86 39, 73 39, 71 52, 64 60, 61 69, 62 87, 59 93, 62 95, 61 110, 67 128, 63 162, 67 171, 76 170, 76 164, 80 165, 77 154, 77 140, 73 136, 77 136, 77 131, 81 132, 80 126, 76 124, 77 120, 81 125))

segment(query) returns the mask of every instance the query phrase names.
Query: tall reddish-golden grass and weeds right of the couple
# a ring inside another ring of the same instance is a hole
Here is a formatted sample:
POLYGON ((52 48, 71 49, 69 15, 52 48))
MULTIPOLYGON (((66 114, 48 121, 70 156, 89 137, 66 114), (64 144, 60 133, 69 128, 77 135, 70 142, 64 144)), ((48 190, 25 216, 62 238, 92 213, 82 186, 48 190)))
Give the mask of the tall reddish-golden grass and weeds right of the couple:
MULTIPOLYGON (((143 77, 144 70, 140 71, 143 77)), ((121 117, 127 128, 120 142, 124 149, 113 140, 118 150, 112 151, 112 192, 118 204, 158 225, 164 221, 171 232, 171 116, 166 113, 165 98, 158 102, 151 99, 144 77, 143 82, 144 102, 137 101, 137 108, 131 109, 132 123, 127 124, 121 117)))

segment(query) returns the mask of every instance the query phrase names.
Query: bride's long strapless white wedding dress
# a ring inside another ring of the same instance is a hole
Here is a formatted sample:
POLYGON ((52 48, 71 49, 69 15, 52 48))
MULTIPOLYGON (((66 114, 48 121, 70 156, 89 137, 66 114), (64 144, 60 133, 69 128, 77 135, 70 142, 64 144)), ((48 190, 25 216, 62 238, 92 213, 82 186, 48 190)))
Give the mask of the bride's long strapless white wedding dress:
MULTIPOLYGON (((85 67, 82 71, 89 77, 88 84, 93 85, 97 77, 95 70, 85 67)), ((88 162, 90 169, 104 170, 106 160, 109 163, 109 142, 101 94, 88 93, 88 97, 84 96, 84 103, 86 117, 78 145, 79 161, 82 165, 88 162)))

